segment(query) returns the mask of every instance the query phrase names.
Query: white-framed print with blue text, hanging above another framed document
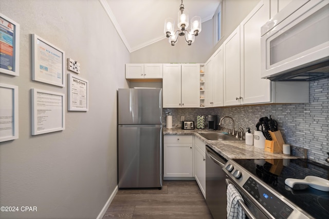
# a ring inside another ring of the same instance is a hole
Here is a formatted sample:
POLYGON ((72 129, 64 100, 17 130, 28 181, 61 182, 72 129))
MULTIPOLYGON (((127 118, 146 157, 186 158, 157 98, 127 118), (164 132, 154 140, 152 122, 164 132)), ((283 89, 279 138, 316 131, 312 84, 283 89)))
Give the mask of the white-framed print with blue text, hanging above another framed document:
POLYGON ((63 50, 32 34, 32 79, 65 87, 63 50))

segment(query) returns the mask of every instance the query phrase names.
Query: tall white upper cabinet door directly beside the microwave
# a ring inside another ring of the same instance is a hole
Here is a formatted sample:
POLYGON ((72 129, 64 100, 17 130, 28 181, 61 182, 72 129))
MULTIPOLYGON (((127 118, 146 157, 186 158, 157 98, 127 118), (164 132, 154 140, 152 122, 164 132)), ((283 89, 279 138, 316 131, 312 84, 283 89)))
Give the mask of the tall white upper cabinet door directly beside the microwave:
POLYGON ((269 3, 261 1, 240 24, 241 104, 270 102, 270 81, 261 78, 261 27, 269 20, 269 3))

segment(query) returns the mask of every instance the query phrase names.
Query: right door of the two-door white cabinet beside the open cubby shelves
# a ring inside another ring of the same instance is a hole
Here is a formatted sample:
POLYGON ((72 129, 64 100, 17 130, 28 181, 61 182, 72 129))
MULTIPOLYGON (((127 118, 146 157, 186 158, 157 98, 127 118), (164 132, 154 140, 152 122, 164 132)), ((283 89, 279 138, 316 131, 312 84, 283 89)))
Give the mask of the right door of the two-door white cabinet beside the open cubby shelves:
POLYGON ((221 107, 224 105, 224 51, 221 46, 213 57, 214 71, 213 71, 213 106, 221 107))

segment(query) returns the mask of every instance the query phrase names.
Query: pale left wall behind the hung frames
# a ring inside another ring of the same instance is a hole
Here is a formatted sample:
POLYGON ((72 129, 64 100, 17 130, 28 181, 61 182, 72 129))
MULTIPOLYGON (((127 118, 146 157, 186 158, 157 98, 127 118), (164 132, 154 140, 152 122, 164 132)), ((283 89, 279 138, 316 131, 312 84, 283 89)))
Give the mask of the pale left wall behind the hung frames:
POLYGON ((128 87, 129 52, 98 0, 1 0, 0 12, 21 25, 20 76, 0 73, 19 86, 19 139, 0 143, 0 206, 38 209, 0 218, 96 218, 117 186, 117 89, 128 87), (31 88, 67 98, 67 85, 32 81, 31 33, 80 62, 89 81, 89 111, 66 106, 63 131, 31 135, 31 88))

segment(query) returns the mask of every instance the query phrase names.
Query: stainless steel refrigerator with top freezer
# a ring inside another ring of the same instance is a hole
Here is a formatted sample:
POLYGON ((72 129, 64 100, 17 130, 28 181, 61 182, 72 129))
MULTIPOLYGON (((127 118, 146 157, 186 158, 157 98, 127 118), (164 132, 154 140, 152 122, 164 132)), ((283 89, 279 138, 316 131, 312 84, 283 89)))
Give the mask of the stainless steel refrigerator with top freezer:
POLYGON ((162 89, 118 90, 118 187, 162 187, 162 89))

